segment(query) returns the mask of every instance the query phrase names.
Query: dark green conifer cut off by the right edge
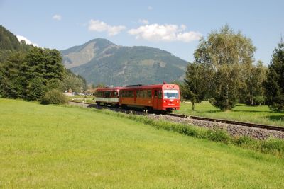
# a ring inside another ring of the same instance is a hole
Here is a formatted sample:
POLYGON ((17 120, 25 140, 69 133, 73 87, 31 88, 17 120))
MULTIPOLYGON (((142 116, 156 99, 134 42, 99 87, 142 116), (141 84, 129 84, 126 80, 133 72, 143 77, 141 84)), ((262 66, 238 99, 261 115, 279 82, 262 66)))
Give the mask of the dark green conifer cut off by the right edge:
POLYGON ((269 108, 275 111, 284 110, 284 43, 282 40, 278 48, 273 51, 264 88, 266 104, 269 108))

